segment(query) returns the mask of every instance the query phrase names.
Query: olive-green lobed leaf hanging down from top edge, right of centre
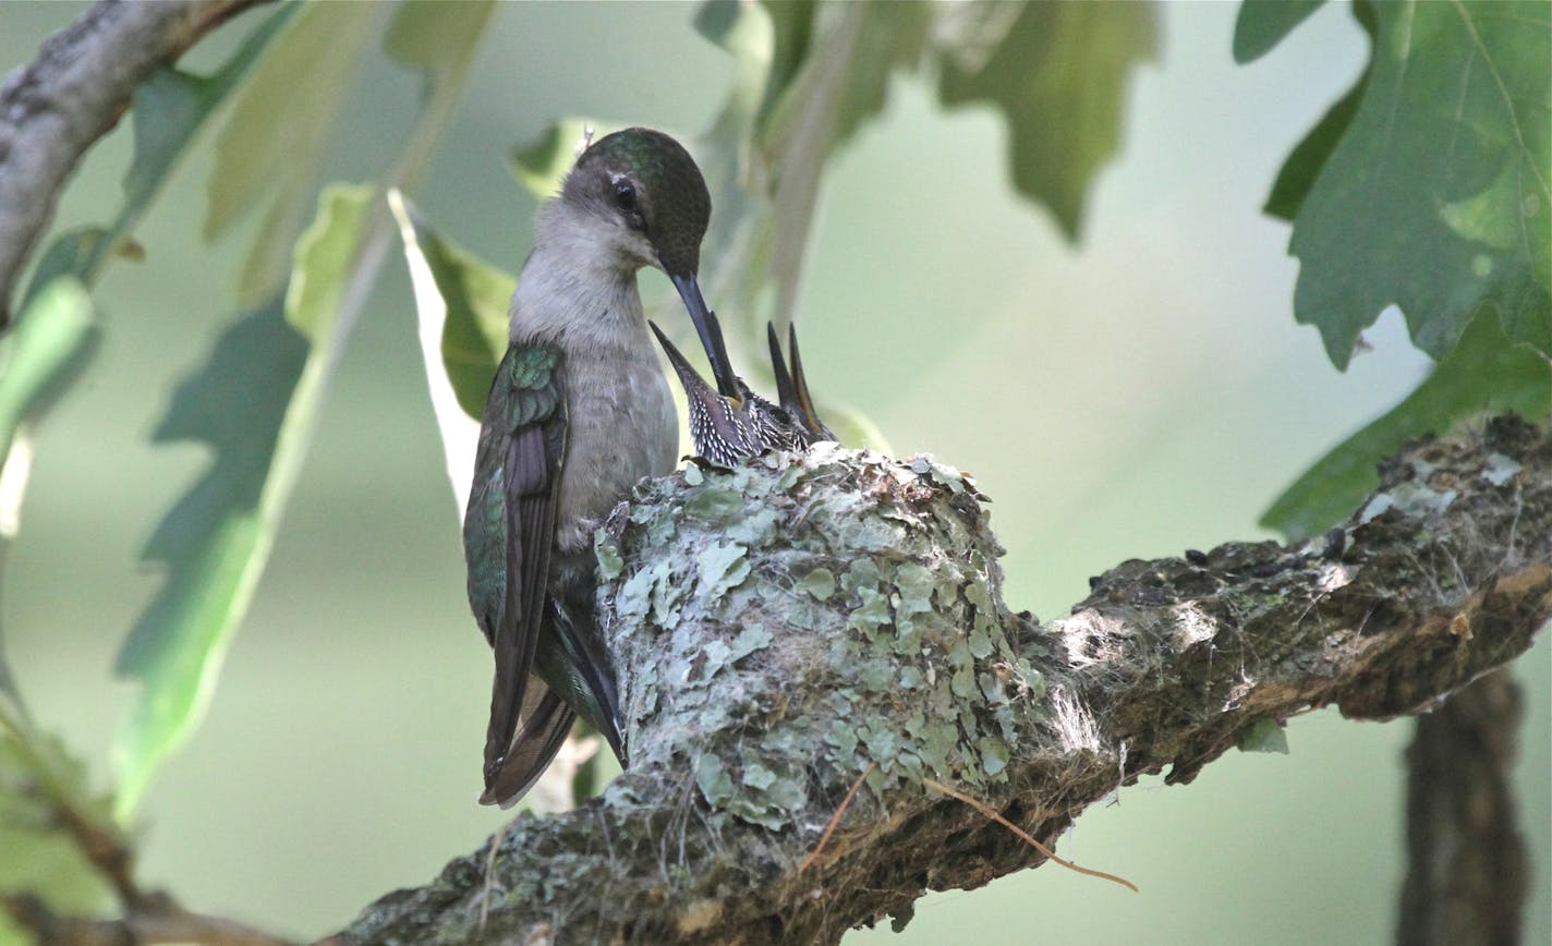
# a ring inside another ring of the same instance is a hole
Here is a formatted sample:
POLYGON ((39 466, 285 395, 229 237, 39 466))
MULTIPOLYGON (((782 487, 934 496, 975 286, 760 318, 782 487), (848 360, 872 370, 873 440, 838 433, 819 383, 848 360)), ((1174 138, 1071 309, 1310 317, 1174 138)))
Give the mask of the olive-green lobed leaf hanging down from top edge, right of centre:
POLYGON ((1083 200, 1121 143, 1131 68, 1155 57, 1155 11, 1141 3, 970 3, 939 47, 945 105, 987 101, 1009 127, 1013 185, 1077 239, 1083 200))

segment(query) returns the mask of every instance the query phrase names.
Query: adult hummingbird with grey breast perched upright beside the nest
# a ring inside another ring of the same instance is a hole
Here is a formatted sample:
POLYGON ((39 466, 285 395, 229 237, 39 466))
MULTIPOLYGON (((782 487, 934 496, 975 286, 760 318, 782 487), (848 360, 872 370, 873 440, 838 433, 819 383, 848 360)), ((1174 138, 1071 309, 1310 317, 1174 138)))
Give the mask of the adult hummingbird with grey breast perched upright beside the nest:
MULTIPOLYGON (((643 267, 667 273, 702 344, 725 357, 697 282, 709 217, 689 152, 639 127, 591 143, 539 209, 464 516, 469 603, 495 651, 484 805, 517 803, 577 715, 627 761, 593 617, 591 537, 677 456, 678 417, 636 288, 643 267)), ((733 377, 726 363, 714 369, 733 377)))

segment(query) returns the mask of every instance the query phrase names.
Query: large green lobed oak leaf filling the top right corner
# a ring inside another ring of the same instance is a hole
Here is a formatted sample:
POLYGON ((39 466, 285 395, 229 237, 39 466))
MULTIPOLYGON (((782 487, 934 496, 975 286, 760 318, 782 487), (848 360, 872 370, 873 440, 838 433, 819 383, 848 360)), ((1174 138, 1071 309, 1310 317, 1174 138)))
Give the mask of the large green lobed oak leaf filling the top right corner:
POLYGON ((1552 14, 1544 3, 1358 3, 1369 70, 1293 152, 1294 316, 1346 368, 1391 304, 1445 357, 1484 307, 1552 355, 1552 14))

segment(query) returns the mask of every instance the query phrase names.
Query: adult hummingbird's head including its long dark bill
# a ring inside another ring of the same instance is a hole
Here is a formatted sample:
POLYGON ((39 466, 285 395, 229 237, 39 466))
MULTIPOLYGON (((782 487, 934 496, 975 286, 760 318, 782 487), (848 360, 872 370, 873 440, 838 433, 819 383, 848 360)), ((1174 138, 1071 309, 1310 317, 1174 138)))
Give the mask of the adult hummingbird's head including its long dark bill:
POLYGON ((697 281, 711 192, 689 152, 652 129, 605 135, 577 158, 560 200, 607 222, 610 242, 625 261, 667 273, 695 323, 719 391, 736 394, 733 363, 720 332, 709 326, 697 281))

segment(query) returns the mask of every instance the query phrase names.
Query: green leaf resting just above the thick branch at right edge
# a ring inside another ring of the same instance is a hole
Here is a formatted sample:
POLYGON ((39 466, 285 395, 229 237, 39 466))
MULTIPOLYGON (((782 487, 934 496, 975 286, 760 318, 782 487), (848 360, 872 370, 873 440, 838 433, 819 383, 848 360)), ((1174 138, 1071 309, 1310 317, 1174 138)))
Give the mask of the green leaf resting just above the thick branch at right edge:
POLYGON ((1484 309, 1460 343, 1406 400, 1310 467, 1262 516, 1288 540, 1316 535, 1350 515, 1380 482, 1375 471, 1405 440, 1443 433, 1482 413, 1552 414, 1552 364, 1513 344, 1484 309))

